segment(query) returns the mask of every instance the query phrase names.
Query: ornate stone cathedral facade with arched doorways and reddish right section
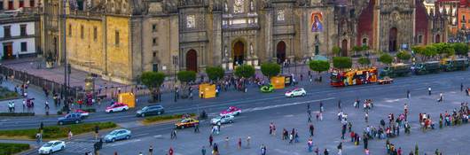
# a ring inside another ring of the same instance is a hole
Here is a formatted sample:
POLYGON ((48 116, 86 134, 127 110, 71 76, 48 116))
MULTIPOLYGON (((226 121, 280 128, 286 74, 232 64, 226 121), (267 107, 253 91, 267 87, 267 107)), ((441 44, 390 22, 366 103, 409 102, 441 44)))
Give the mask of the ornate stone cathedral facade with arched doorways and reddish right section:
POLYGON ((445 19, 422 0, 69 0, 66 8, 69 63, 122 83, 145 71, 303 62, 333 56, 334 46, 350 56, 354 46, 397 51, 447 37, 445 19))

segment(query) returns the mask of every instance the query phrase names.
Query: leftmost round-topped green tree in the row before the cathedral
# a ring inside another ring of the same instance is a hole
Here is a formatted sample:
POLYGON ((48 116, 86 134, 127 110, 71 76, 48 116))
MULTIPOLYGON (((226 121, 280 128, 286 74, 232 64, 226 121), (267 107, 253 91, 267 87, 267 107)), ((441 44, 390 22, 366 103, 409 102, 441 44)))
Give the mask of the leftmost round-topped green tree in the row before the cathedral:
POLYGON ((144 72, 140 76, 140 81, 150 90, 152 102, 155 102, 160 95, 160 87, 165 81, 165 74, 160 72, 144 72))

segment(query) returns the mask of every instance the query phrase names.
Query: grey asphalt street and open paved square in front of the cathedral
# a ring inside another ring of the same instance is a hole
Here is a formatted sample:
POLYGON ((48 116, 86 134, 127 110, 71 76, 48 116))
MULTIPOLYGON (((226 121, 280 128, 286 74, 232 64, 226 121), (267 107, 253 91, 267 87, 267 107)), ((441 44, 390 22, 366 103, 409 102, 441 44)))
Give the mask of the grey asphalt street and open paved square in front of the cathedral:
MULTIPOLYGON (((303 86, 307 89, 306 97, 283 97, 284 90, 279 90, 271 94, 253 92, 235 92, 230 95, 222 93, 221 97, 211 100, 197 100, 197 102, 185 101, 184 103, 168 103, 166 105, 168 113, 198 112, 202 109, 209 112, 210 116, 230 105, 239 106, 243 113, 236 118, 233 124, 223 125, 221 135, 215 136, 215 142, 219 143, 222 154, 258 154, 259 146, 264 143, 268 146, 268 154, 307 154, 306 136, 308 132, 307 105, 310 104, 314 110, 318 109, 320 102, 325 105, 325 120, 314 121, 316 126, 316 136, 314 136, 315 147, 320 150, 329 149, 331 153, 336 152, 336 145, 341 142, 341 124, 336 119, 338 112, 337 102, 341 100, 345 107, 344 111, 349 113, 353 128, 362 131, 365 127, 364 112, 352 107, 356 98, 372 99, 376 107, 370 112, 370 124, 377 126, 380 119, 386 119, 388 113, 403 112, 403 103, 410 103, 411 126, 413 127, 410 136, 400 136, 392 139, 393 143, 403 148, 404 152, 409 152, 415 144, 419 144, 423 152, 433 152, 436 148, 445 152, 444 154, 465 154, 470 148, 465 147, 469 137, 464 133, 470 129, 470 125, 463 125, 456 128, 443 128, 422 133, 418 129, 419 112, 431 113, 434 120, 437 120, 439 112, 452 110, 458 107, 460 102, 468 102, 470 99, 463 92, 459 91, 460 83, 470 84, 470 72, 453 72, 442 74, 429 74, 423 76, 411 76, 398 78, 390 85, 363 85, 348 88, 332 88, 326 83, 303 86), (427 96, 427 87, 432 87, 435 92, 433 96, 427 96), (406 97, 406 90, 411 90, 411 100, 406 97), (438 93, 445 95, 444 104, 436 104, 438 93), (201 102, 202 101, 202 102, 201 102), (174 104, 174 105, 171 105, 174 104), (169 105, 169 106, 168 106, 169 105), (301 133, 301 143, 288 144, 280 140, 279 136, 270 137, 268 135, 269 123, 275 122, 278 131, 282 128, 298 128, 301 133), (225 148, 224 137, 230 137, 229 146, 225 148), (251 147, 247 148, 246 137, 252 137, 251 147), (236 148, 237 139, 242 138, 244 147, 236 148), (449 144, 451 143, 451 145, 449 144)), ((195 100, 196 101, 196 100, 195 100)), ((27 128, 30 124, 35 127, 38 121, 48 124, 55 124, 56 118, 27 118, 2 120, 3 128, 27 128), (26 123, 27 122, 27 123, 26 123), (23 125, 22 125, 23 124, 23 125)), ((178 139, 170 140, 169 134, 173 123, 164 123, 153 126, 142 126, 134 116, 134 112, 120 113, 94 113, 86 121, 107 121, 118 122, 123 128, 129 128, 133 132, 130 140, 117 143, 106 143, 101 154, 113 154, 114 151, 120 154, 138 154, 139 151, 146 153, 149 145, 153 145, 154 152, 165 154, 169 147, 175 149, 176 154, 200 154, 202 145, 208 147, 208 134, 210 126, 207 121, 203 121, 201 132, 194 134, 192 128, 178 130, 178 139), (129 148, 131 146, 131 148, 129 148)), ((372 154, 385 154, 385 141, 373 140, 370 143, 372 154)), ((360 149, 362 146, 354 146, 352 143, 344 142, 343 154, 364 154, 360 149)), ((67 144, 66 151, 57 154, 83 154, 92 149, 93 140, 90 136, 83 136, 74 139, 67 144)), ((209 150, 209 149, 208 149, 209 150)), ((209 151, 208 151, 209 152, 209 151)), ((28 154, 28 153, 26 153, 28 154)), ((33 152, 31 154, 34 154, 33 152)))

